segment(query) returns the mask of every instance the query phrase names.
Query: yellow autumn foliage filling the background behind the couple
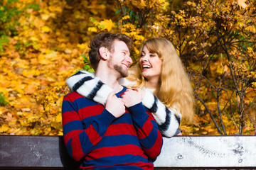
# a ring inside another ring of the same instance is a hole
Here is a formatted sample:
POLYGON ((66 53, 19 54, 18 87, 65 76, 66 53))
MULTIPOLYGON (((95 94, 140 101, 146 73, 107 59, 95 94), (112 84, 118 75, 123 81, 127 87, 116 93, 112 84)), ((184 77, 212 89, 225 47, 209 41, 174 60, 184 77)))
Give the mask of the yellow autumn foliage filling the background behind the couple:
MULTIPOLYGON (((217 88, 224 73, 225 79, 231 79, 230 68, 234 68, 235 75, 250 79, 248 82, 251 86, 245 89, 247 93, 256 89, 255 69, 250 67, 256 59, 255 46, 245 46, 247 50, 242 51, 238 46, 226 49, 230 60, 226 59, 226 54, 221 53, 221 47, 214 46, 215 42, 225 40, 224 33, 228 31, 238 31, 239 36, 250 33, 247 36, 254 37, 255 18, 246 16, 247 13, 253 15, 255 7, 252 4, 246 4, 245 0, 213 1, 212 4, 205 0, 196 3, 187 1, 182 3, 182 10, 166 12, 166 9, 171 8, 166 0, 117 2, 122 7, 129 7, 129 10, 123 13, 120 10, 118 15, 111 16, 110 11, 117 11, 118 8, 112 1, 108 4, 100 4, 100 1, 74 1, 74 4, 69 6, 65 0, 46 0, 41 1, 40 11, 31 10, 28 16, 24 15, 18 19, 21 26, 17 27, 17 35, 10 38, 10 43, 5 47, 6 51, 0 60, 0 92, 3 92, 5 101, 9 103, 0 106, 1 134, 63 135, 61 103, 63 96, 69 92, 65 80, 83 67, 80 55, 87 55, 92 36, 104 31, 129 35, 134 42, 135 60, 144 40, 163 37, 174 43, 178 55, 185 58, 184 62, 189 71, 201 74, 209 64, 203 73, 208 81, 201 81, 198 92, 216 118, 216 91, 213 87, 217 88), (218 40, 214 34, 208 34, 219 33, 218 31, 223 40, 218 40), (211 45, 215 48, 210 49, 211 45), (215 51, 221 54, 212 55, 215 51), (242 53, 245 51, 247 53, 242 53), (252 60, 243 64, 245 56, 252 60), (201 57, 201 63, 198 63, 197 57, 201 57)), ((229 36, 231 35, 226 37, 229 36)), ((237 45, 239 36, 229 43, 237 45)), ((195 79, 199 81, 201 77, 195 79)), ((196 86, 196 83, 193 86, 196 86)), ((230 81, 230 84, 233 84, 233 81, 230 81)), ((233 102, 232 92, 229 89, 225 89, 225 93, 222 91, 220 109, 224 108, 230 97, 230 102, 233 102)), ((246 96, 246 106, 254 96, 253 93, 246 96)), ((200 102, 197 102, 197 105, 196 112, 200 115, 196 115, 198 123, 182 123, 183 135, 219 135, 206 108, 200 102)), ((237 108, 233 106, 233 109, 235 121, 238 121, 237 108)), ((254 115, 252 118, 255 118, 254 115)), ((220 120, 217 122, 220 123, 220 120)), ((234 120, 228 116, 223 115, 223 123, 228 134, 238 132, 234 120)), ((248 123, 247 126, 249 127, 248 123)), ((252 128, 245 130, 252 133, 252 128)))

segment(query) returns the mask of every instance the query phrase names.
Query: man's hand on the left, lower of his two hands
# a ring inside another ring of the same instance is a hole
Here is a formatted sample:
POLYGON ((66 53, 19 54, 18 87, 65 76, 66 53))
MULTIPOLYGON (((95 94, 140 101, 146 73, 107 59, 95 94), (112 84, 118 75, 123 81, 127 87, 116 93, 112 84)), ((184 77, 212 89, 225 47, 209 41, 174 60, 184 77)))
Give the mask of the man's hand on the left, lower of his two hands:
POLYGON ((111 92, 109 96, 107 96, 106 109, 116 118, 119 118, 125 113, 125 106, 122 102, 122 98, 117 98, 114 92, 111 92))

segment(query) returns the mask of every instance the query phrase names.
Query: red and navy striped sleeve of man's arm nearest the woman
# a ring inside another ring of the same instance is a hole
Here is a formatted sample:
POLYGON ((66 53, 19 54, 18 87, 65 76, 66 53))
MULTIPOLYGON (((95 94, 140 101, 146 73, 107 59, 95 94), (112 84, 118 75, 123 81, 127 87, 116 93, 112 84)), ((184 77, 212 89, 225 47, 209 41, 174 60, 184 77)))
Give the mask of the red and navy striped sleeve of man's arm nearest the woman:
POLYGON ((146 113, 142 103, 128 108, 132 115, 134 127, 146 155, 155 159, 161 152, 163 138, 156 121, 151 114, 146 113))

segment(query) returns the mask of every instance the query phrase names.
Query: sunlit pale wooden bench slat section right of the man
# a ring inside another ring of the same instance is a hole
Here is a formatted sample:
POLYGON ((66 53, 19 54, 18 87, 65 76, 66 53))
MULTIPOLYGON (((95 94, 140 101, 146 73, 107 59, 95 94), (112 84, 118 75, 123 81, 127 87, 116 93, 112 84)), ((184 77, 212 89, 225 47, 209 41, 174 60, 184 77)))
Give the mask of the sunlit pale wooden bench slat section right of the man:
POLYGON ((256 136, 164 138, 164 147, 154 166, 174 169, 255 169, 256 136))

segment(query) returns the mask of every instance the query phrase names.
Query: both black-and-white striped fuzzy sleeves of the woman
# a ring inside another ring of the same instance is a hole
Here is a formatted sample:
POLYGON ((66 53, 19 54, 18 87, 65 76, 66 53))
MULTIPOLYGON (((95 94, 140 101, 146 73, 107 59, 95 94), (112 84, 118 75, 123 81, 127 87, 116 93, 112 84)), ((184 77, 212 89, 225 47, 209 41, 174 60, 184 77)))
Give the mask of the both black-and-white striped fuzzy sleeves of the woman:
MULTIPOLYGON (((119 81, 122 83, 122 81, 119 81)), ((80 70, 67 80, 67 84, 71 91, 76 91, 78 94, 86 98, 96 101, 105 106, 107 96, 113 91, 110 86, 103 84, 94 74, 80 70)), ((156 123, 159 125, 159 130, 165 137, 176 135, 176 131, 181 122, 181 114, 174 114, 174 108, 166 108, 156 96, 146 90, 142 104, 149 108, 156 123)))

